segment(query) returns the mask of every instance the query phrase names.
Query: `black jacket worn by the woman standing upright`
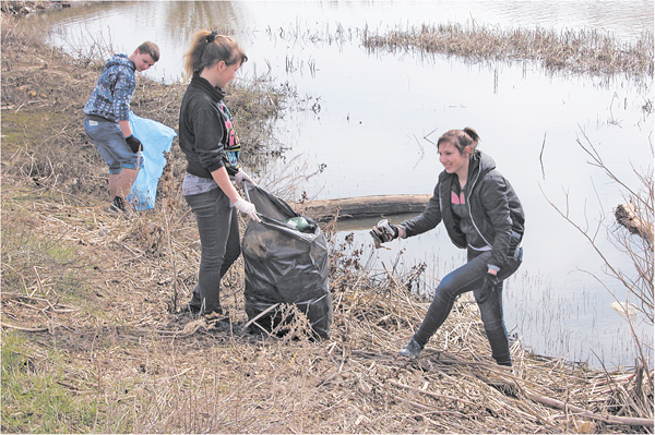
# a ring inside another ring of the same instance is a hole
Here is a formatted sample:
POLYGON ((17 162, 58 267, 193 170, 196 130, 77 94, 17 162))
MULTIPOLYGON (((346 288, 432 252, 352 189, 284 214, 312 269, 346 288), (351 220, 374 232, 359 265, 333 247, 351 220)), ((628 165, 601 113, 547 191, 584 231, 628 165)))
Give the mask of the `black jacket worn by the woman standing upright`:
POLYGON ((225 93, 205 78, 193 75, 179 118, 180 148, 187 156, 187 172, 212 178, 212 172, 226 164, 227 132, 218 104, 225 93))

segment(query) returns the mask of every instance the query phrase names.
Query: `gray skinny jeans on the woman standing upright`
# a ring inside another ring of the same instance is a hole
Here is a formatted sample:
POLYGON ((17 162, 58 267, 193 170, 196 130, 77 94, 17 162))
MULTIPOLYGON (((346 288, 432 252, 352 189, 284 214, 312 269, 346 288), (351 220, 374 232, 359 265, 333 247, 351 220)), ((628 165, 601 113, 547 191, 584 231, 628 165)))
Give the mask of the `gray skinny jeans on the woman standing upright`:
POLYGON ((221 279, 241 254, 237 209, 221 189, 184 200, 195 215, 201 246, 198 285, 189 305, 201 314, 222 314, 221 279))

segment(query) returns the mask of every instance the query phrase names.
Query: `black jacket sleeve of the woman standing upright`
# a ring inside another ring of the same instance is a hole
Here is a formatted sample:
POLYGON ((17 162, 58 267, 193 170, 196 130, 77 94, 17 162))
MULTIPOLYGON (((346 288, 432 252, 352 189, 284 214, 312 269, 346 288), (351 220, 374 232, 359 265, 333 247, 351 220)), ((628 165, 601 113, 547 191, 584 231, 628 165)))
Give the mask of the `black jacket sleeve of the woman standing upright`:
POLYGON ((225 126, 218 109, 202 108, 195 113, 192 122, 193 131, 196 132, 194 146, 200 165, 210 172, 223 168, 225 126))

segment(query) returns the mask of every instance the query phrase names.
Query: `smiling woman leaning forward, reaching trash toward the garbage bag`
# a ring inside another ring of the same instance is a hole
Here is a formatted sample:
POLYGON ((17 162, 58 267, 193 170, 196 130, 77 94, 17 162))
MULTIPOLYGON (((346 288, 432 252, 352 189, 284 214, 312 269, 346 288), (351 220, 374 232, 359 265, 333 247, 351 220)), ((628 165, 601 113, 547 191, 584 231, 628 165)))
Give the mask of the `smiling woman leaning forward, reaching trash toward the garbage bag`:
POLYGON ((496 162, 479 152, 478 134, 471 128, 451 130, 437 143, 443 172, 424 213, 397 226, 380 221, 371 235, 381 242, 418 235, 437 227, 466 249, 467 263, 448 274, 434 291, 426 317, 400 351, 416 358, 448 317, 456 298, 473 291, 498 364, 512 365, 502 314, 502 281, 516 271, 523 257, 524 214, 510 182, 496 162))

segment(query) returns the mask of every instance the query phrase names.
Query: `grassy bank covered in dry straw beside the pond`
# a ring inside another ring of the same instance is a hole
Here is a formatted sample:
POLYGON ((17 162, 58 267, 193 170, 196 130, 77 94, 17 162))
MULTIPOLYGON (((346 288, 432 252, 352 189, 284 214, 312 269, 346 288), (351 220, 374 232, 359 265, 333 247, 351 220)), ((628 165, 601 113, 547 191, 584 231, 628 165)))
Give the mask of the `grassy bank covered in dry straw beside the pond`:
MULTIPOLYGON (((652 372, 592 371, 520 342, 510 372, 467 300, 420 359, 398 358, 427 309, 407 290, 416 274, 373 274, 347 241, 331 243, 327 340, 301 319, 283 337, 245 329, 240 261, 225 321, 179 314, 200 245, 177 144, 154 210, 106 214, 106 169, 82 129, 102 62, 2 20, 3 433, 653 432, 652 372)), ((237 85, 228 102, 254 168, 279 152, 266 129, 289 94, 237 85)), ((183 90, 139 78, 132 108, 175 128, 183 90)))

